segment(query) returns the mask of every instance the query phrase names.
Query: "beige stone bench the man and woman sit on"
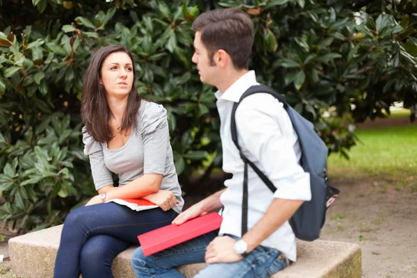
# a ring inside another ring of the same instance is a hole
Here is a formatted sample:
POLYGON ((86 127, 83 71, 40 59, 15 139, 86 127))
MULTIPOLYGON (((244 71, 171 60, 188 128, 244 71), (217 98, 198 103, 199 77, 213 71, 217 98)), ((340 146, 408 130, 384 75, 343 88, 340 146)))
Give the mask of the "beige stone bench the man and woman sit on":
MULTIPOLYGON (((51 227, 10 239, 8 245, 13 272, 26 278, 52 277, 62 227, 51 227)), ((129 247, 113 260, 115 278, 135 278, 130 265, 135 248, 129 247)), ((297 253, 297 262, 273 278, 361 277, 359 245, 325 240, 298 241, 297 253)), ((193 277, 204 266, 204 263, 183 265, 179 271, 186 277, 193 277)))

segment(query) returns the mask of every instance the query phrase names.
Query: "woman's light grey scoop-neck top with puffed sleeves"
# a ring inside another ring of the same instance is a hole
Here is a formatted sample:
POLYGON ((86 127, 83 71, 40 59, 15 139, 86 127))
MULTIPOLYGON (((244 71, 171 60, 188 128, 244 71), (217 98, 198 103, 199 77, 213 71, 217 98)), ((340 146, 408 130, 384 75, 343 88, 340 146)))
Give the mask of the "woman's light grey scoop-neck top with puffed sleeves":
POLYGON ((161 189, 174 193, 179 204, 174 211, 181 213, 181 197, 175 172, 167 111, 160 104, 142 101, 138 111, 138 128, 132 129, 126 144, 119 149, 108 149, 107 142, 95 141, 83 127, 84 154, 90 157, 95 188, 113 184, 112 174, 119 176, 119 186, 138 179, 143 174, 163 174, 161 189))

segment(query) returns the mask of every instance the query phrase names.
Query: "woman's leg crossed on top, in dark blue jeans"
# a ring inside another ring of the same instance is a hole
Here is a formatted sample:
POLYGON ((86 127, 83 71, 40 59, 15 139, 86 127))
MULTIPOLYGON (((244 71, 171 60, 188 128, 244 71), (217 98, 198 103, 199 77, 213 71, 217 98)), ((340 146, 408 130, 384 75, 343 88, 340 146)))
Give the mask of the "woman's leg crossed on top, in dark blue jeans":
POLYGON ((85 242, 92 236, 108 235, 138 243, 137 236, 158 229, 177 216, 177 213, 153 208, 132 211, 115 203, 83 206, 65 218, 60 247, 56 256, 55 278, 79 277, 79 256, 85 242))

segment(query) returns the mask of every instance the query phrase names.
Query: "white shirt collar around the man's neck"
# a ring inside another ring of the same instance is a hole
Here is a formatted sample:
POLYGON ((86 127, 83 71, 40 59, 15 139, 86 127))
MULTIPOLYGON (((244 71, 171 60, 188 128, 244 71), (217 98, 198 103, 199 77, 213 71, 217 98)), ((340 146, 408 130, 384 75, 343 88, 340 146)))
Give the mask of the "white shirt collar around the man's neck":
POLYGON ((214 95, 217 99, 239 102, 243 93, 255 84, 257 84, 255 71, 250 70, 249 72, 243 74, 243 76, 240 76, 235 83, 231 84, 226 92, 220 92, 220 90, 218 90, 214 95))

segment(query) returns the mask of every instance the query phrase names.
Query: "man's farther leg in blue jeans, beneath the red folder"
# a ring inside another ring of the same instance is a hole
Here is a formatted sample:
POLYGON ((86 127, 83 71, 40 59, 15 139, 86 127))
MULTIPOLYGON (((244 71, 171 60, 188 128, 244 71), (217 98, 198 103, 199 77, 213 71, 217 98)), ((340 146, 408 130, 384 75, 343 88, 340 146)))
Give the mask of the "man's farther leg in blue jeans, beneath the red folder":
POLYGON ((139 278, 183 278, 184 276, 175 268, 188 263, 204 262, 206 247, 216 236, 218 236, 218 230, 151 256, 145 256, 142 248, 139 247, 132 256, 133 271, 139 278))

